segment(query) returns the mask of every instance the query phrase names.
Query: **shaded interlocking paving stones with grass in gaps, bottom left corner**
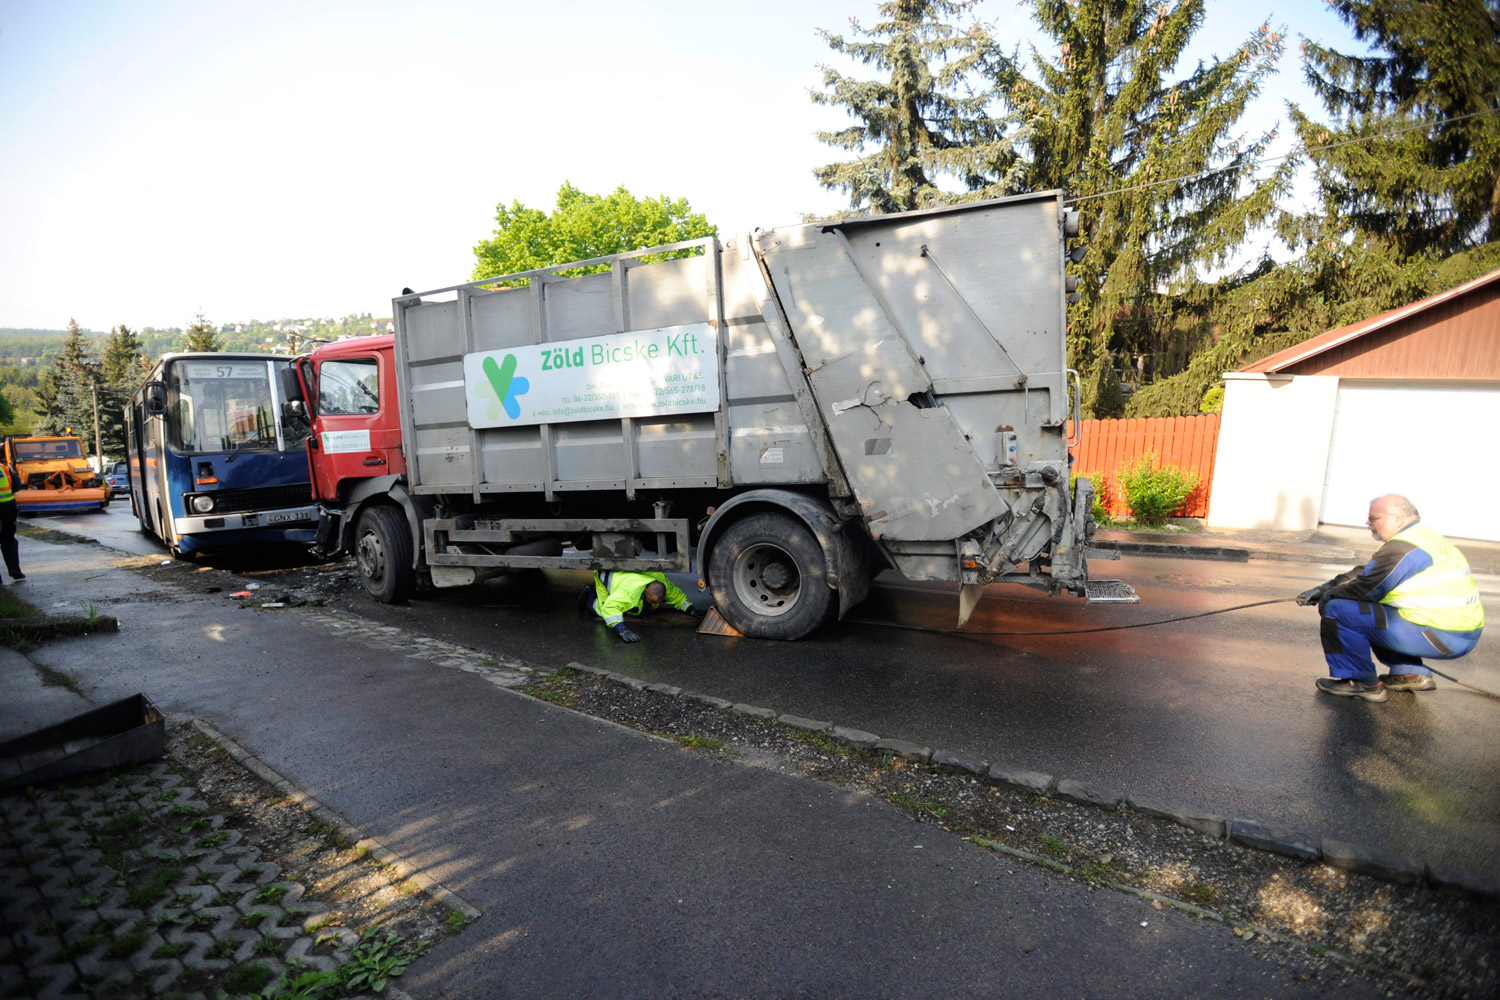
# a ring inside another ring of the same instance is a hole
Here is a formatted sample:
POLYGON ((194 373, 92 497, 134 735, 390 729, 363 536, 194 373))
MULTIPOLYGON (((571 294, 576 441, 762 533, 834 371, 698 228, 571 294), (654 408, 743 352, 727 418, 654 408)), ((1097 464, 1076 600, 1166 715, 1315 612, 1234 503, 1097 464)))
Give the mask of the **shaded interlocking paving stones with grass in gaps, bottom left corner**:
POLYGON ((0 937, 0 996, 70 1000, 105 984, 118 996, 165 996, 189 972, 238 963, 264 966, 272 985, 291 961, 336 967, 357 936, 309 930, 326 907, 303 903, 306 888, 282 880, 243 837, 165 763, 10 796, 0 810, 9 931, 0 937), (156 825, 165 832, 135 832, 156 825), (135 871, 111 868, 102 846, 122 850, 135 871), (246 922, 249 915, 261 916, 246 922))

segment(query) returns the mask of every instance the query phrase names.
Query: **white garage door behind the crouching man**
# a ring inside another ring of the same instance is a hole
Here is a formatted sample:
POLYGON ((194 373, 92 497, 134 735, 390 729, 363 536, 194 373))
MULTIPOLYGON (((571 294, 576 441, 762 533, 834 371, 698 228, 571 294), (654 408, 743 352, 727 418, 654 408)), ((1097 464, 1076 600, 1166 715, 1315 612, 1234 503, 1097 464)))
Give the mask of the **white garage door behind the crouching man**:
POLYGON ((1382 493, 1412 498, 1450 538, 1500 541, 1500 384, 1338 385, 1318 520, 1364 525, 1382 493))

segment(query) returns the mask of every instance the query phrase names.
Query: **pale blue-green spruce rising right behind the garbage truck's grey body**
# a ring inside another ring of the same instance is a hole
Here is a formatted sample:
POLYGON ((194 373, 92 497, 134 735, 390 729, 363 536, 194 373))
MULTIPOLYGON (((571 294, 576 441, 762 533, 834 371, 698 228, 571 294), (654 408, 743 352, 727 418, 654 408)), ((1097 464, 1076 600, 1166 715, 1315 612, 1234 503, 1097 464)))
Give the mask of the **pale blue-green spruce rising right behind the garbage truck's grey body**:
POLYGON ((849 195, 855 213, 888 213, 1022 190, 1022 163, 1006 132, 1014 117, 996 117, 1000 102, 987 72, 1004 61, 990 28, 958 18, 975 0, 891 0, 854 37, 819 31, 836 52, 873 66, 882 79, 854 79, 822 66, 819 105, 844 108, 855 124, 819 132, 856 159, 813 171, 831 190, 849 195), (944 183, 960 190, 945 190, 944 183))

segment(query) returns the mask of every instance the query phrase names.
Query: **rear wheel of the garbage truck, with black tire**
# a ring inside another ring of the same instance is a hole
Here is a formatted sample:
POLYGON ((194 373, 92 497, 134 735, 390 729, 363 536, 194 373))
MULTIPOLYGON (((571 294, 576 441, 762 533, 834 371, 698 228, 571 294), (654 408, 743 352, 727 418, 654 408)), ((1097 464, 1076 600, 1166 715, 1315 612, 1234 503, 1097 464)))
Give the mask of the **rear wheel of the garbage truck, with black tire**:
POLYGON ((746 636, 801 639, 837 607, 822 546, 790 514, 765 511, 729 525, 710 568, 718 613, 746 636))

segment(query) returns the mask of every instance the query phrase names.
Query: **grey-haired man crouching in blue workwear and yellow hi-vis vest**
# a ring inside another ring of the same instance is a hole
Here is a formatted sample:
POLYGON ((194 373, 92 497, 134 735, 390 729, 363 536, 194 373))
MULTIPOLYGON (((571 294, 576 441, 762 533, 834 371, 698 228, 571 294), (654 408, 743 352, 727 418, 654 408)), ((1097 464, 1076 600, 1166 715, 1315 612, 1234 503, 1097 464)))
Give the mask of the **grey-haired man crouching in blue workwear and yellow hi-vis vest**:
POLYGON ((1384 702, 1390 691, 1437 687, 1422 658, 1462 657, 1479 642, 1485 609, 1479 585, 1454 543, 1420 522, 1396 493, 1370 501, 1370 534, 1384 544, 1362 567, 1298 595, 1318 606, 1328 694, 1384 702), (1390 667, 1376 676, 1374 652, 1390 667))

